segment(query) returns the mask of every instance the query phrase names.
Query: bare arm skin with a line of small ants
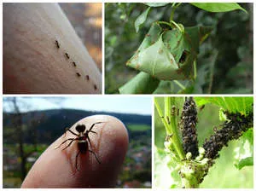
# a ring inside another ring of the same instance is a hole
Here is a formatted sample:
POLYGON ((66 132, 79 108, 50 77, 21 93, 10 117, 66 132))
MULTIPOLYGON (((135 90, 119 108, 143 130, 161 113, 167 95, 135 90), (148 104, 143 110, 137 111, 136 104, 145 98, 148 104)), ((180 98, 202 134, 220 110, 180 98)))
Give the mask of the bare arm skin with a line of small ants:
POLYGON ((3 3, 4 94, 99 94, 101 72, 56 3, 3 3))

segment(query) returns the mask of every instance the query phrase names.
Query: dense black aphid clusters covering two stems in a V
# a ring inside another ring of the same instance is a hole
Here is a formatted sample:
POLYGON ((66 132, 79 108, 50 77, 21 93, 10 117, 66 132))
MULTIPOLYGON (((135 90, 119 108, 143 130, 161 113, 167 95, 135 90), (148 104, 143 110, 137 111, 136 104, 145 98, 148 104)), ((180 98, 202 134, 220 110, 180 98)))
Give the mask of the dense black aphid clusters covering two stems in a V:
MULTIPOLYGON (((229 113, 224 112, 227 120, 224 124, 220 124, 220 130, 214 127, 214 134, 204 142, 203 148, 205 149, 204 157, 207 159, 217 159, 218 152, 224 147, 228 146, 228 142, 234 139, 238 139, 243 132, 247 131, 253 126, 253 113, 249 113, 247 116, 241 113, 229 113)), ((179 126, 182 132, 183 139, 183 151, 184 153, 191 153, 192 159, 198 156, 198 141, 196 134, 197 124, 197 111, 195 101, 193 97, 185 99, 183 103, 183 113, 179 126)), ((209 164, 213 164, 213 161, 209 161, 209 164)))

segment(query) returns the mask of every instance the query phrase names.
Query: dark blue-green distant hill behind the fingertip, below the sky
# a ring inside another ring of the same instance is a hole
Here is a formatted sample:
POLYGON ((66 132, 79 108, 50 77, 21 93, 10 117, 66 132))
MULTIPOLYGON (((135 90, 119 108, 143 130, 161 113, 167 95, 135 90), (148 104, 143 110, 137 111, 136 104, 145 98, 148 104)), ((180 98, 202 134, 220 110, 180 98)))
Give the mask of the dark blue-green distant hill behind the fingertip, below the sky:
MULTIPOLYGON (((36 126, 36 129, 38 130, 38 142, 50 143, 53 142, 57 137, 61 136, 66 127, 72 126, 79 119, 83 119, 90 115, 96 114, 112 115, 120 119, 126 125, 126 127, 130 126, 131 124, 147 124, 151 127, 151 116, 149 115, 90 112, 75 109, 53 109, 22 113, 22 122, 24 125, 26 125, 31 122, 31 119, 38 119, 36 120, 37 123, 34 124, 36 126)), ((3 135, 8 134, 8 129, 11 128, 11 121, 14 120, 14 117, 14 113, 3 113, 3 135)), ((138 127, 139 126, 140 125, 138 125, 138 127)), ((132 126, 132 129, 134 130, 134 125, 132 126)), ((128 129, 130 139, 136 138, 137 136, 141 135, 151 136, 151 129, 144 131, 133 130, 128 129)), ((32 142, 31 134, 25 133, 24 139, 27 143, 32 142)), ((9 136, 3 136, 3 142, 10 143, 13 142, 13 140, 11 140, 11 137, 9 136)))

